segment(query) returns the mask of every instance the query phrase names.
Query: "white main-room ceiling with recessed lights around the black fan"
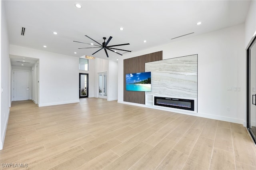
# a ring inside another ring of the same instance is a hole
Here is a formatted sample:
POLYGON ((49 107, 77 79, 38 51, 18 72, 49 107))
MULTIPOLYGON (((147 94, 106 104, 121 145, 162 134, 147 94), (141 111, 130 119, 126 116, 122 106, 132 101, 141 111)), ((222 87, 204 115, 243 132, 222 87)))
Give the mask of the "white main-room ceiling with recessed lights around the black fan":
MULTIPOLYGON (((10 44, 81 57, 98 50, 78 49, 92 47, 73 42, 92 43, 84 35, 99 43, 112 36, 108 45, 130 43, 118 48, 138 51, 244 23, 250 1, 6 0, 4 6, 10 44), (82 8, 75 7, 77 2, 82 8), (202 24, 197 26, 199 21, 202 24), (20 35, 22 27, 25 36, 20 35)), ((113 60, 122 57, 108 54, 113 60)), ((107 59, 104 50, 93 56, 107 59)))

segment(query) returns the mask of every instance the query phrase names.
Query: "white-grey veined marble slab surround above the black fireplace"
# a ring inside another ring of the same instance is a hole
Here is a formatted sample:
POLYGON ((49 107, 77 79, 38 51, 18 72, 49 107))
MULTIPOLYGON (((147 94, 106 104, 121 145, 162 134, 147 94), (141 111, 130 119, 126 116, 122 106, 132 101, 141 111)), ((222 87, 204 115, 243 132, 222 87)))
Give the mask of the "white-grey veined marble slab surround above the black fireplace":
POLYGON ((195 110, 188 112, 197 113, 197 61, 195 54, 145 63, 145 71, 151 71, 151 92, 145 92, 145 104, 159 107, 154 105, 155 96, 193 99, 195 110))

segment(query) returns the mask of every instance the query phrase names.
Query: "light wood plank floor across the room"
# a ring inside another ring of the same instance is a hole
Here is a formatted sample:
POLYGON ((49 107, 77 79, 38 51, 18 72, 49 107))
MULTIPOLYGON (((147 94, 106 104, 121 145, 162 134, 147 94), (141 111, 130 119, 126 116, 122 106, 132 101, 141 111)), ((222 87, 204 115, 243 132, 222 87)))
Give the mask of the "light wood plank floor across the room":
POLYGON ((105 99, 10 108, 1 169, 256 170, 242 125, 105 99), (10 165, 10 164, 9 164, 10 165))

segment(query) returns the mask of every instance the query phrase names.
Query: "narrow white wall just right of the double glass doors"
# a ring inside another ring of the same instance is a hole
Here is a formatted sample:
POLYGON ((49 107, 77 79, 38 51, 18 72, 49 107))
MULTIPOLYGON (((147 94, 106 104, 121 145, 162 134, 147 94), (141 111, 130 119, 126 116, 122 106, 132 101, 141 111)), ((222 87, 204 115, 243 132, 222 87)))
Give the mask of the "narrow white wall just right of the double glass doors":
POLYGON ((108 101, 117 100, 118 95, 118 63, 108 61, 108 101))

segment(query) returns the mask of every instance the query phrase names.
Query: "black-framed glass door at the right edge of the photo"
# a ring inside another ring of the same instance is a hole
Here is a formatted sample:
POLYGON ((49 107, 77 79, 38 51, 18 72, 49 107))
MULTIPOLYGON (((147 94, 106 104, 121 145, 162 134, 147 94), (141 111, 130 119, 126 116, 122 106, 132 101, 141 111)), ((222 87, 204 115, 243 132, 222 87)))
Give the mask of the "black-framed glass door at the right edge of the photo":
MULTIPOLYGON (((247 109, 247 128, 256 141, 256 41, 254 39, 253 43, 247 50, 248 60, 249 60, 249 96, 248 103, 249 109, 247 109)), ((248 67, 248 65, 247 65, 248 67)))

